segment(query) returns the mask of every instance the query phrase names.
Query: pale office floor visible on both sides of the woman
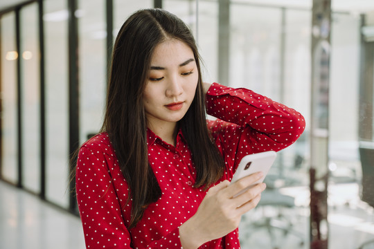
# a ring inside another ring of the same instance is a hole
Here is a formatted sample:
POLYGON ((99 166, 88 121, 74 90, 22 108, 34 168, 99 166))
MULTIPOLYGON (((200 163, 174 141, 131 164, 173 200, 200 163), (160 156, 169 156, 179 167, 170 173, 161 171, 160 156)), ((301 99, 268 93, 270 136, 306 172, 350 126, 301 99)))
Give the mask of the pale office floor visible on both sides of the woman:
MULTIPOLYGON (((358 187, 355 184, 330 187, 329 201, 329 248, 355 249, 368 239, 374 239, 373 209, 356 198, 358 187)), ((283 190, 284 194, 294 195, 297 208, 281 210, 287 221, 292 221, 288 234, 274 232, 270 239, 269 231, 260 226, 265 217, 278 215, 278 209, 258 208, 243 217, 242 225, 251 224, 240 232, 242 248, 287 248, 307 249, 309 208, 305 188, 283 190), (291 231, 296 231, 292 234, 291 231), (273 245, 271 245, 273 242, 273 245)), ((272 220, 271 224, 276 224, 272 220)), ((281 224, 282 225, 282 224, 281 224)), ((1 249, 72 249, 84 248, 84 237, 80 219, 53 205, 40 201, 37 196, 21 191, 0 181, 0 248, 1 249)), ((364 249, 374 248, 372 246, 364 249)))

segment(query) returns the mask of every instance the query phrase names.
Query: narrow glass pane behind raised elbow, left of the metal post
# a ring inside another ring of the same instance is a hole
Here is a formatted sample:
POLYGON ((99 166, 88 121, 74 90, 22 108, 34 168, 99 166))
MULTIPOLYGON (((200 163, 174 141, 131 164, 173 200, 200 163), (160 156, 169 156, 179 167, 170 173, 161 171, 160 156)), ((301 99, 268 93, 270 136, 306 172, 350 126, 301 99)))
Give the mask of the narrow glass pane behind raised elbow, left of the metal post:
MULTIPOLYGON (((282 102, 302 113, 307 125, 301 138, 294 145, 282 151, 284 154, 283 165, 288 167, 287 174, 298 179, 299 185, 308 185, 312 13, 306 8, 305 10, 286 8, 284 11, 285 45, 282 102)), ((303 205, 308 205, 308 203, 303 203, 303 205)))

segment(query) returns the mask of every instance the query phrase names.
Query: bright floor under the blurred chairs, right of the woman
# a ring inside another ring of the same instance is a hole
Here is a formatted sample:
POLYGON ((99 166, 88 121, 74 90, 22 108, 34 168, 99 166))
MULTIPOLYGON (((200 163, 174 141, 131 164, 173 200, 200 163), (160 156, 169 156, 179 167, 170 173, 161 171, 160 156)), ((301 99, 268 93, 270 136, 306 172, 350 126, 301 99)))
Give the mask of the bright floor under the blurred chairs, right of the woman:
MULTIPOLYGON (((310 248, 308 187, 290 187, 281 192, 293 196, 296 206, 258 206, 247 213, 242 220, 244 225, 241 224, 245 228, 242 229, 242 233, 245 233, 241 239, 242 248, 310 248), (267 221, 274 225, 270 230, 264 225, 267 221), (287 233, 279 228, 286 228, 287 233)), ((374 208, 359 199, 359 185, 329 185, 328 203, 328 248, 358 249, 365 241, 373 240, 373 243, 360 249, 374 249, 374 208)))

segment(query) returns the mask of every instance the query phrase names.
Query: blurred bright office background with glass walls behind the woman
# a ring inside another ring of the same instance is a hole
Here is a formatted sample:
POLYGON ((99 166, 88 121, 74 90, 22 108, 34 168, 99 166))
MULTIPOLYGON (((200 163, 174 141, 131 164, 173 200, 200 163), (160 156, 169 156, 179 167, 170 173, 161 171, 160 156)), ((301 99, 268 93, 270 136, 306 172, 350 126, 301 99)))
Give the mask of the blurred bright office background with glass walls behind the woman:
POLYGON ((307 122, 242 218, 242 248, 374 248, 374 1, 317 2, 0 0, 0 248, 84 248, 70 155, 100 129, 119 28, 153 7, 190 26, 205 81, 307 122))

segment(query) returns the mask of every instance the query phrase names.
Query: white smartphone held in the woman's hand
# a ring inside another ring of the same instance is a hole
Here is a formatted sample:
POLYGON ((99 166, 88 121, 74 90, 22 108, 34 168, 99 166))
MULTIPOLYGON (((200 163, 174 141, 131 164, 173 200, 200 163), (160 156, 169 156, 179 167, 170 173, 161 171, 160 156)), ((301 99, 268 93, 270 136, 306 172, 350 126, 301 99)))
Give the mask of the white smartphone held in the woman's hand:
POLYGON ((262 178, 258 179, 255 183, 252 185, 249 185, 244 190, 240 191, 238 194, 235 194, 236 197, 243 192, 247 191, 249 188, 253 187, 253 185, 256 185, 258 183, 262 183, 264 181, 265 176, 267 175, 267 172, 269 172, 269 169, 271 165, 273 165, 274 160, 276 158, 276 152, 275 151, 265 151, 260 152, 256 154, 251 154, 244 156, 242 160, 240 160, 238 169, 236 169, 235 174, 233 175, 233 179, 231 180, 231 183, 235 183, 240 178, 243 178, 244 176, 249 176, 250 174, 256 173, 256 172, 263 172, 264 176, 262 178))

